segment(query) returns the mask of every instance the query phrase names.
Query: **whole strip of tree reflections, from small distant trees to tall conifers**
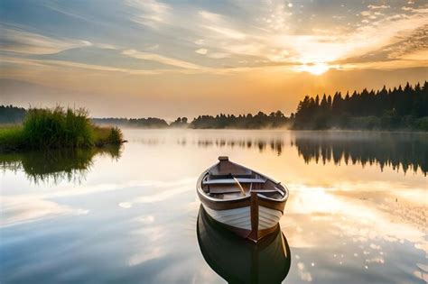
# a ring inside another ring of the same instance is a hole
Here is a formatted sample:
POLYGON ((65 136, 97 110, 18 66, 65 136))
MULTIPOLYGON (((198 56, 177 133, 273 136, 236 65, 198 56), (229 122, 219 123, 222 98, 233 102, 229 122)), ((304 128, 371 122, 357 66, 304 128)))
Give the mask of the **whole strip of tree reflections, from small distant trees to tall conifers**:
MULTIPOLYGON (((380 169, 421 170, 428 172, 428 135, 426 133, 364 133, 364 132, 290 132, 284 138, 222 138, 197 139, 199 147, 239 147, 274 151, 281 155, 284 147, 297 149, 299 157, 310 162, 344 162, 363 167, 378 165, 380 169)), ((178 142, 186 145, 184 139, 178 142)))

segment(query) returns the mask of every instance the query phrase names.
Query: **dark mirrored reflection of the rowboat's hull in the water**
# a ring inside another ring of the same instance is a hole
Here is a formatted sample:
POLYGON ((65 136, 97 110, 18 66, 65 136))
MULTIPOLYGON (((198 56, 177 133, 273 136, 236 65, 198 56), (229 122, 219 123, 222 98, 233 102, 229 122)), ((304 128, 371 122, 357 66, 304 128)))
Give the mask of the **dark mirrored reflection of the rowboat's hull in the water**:
POLYGON ((197 234, 205 261, 229 283, 281 283, 290 270, 290 247, 279 225, 253 243, 228 231, 200 206, 197 234))

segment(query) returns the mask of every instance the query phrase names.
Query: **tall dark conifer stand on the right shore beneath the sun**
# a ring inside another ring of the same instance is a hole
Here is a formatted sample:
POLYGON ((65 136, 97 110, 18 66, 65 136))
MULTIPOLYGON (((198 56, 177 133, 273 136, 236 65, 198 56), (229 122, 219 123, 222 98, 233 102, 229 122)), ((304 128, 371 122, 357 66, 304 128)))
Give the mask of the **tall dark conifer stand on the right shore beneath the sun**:
POLYGON ((294 129, 428 130, 428 82, 412 87, 363 89, 342 96, 305 96, 293 117, 294 129))

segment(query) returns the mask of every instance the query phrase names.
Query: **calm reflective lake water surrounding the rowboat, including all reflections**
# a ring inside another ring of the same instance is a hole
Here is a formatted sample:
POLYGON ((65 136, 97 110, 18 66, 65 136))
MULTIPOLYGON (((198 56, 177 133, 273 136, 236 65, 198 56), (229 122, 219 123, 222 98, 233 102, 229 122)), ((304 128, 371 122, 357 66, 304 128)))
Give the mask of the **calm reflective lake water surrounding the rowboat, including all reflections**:
POLYGON ((125 130, 121 149, 0 155, 0 282, 425 283, 428 135, 125 130), (257 246, 209 222, 219 155, 282 181, 257 246))

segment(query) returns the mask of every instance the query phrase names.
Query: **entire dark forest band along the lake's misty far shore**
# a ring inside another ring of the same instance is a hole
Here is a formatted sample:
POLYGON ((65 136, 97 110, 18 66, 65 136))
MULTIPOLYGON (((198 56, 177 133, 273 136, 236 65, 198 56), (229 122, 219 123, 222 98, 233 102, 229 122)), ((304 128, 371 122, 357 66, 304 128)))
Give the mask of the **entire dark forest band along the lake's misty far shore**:
MULTIPOLYGON (((13 105, 0 105, 0 124, 23 121, 25 109, 13 105)), ((200 115, 189 122, 178 117, 168 124, 162 118, 93 118, 95 124, 109 124, 141 128, 193 128, 193 129, 261 129, 288 127, 292 129, 324 130, 416 130, 428 131, 428 82, 412 87, 394 87, 381 90, 363 89, 343 96, 305 96, 295 114, 285 116, 281 111, 270 115, 200 115)))

